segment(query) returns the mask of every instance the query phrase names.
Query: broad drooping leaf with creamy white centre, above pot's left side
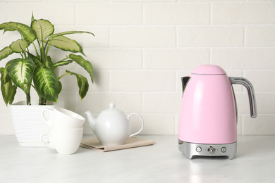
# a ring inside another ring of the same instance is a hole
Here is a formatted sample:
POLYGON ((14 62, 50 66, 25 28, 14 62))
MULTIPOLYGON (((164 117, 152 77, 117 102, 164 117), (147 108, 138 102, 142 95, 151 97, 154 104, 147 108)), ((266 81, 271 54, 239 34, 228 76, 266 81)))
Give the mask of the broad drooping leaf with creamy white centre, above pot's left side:
POLYGON ((34 63, 31 58, 17 58, 8 65, 8 73, 11 80, 20 89, 27 94, 30 91, 30 84, 32 83, 32 72, 34 63))

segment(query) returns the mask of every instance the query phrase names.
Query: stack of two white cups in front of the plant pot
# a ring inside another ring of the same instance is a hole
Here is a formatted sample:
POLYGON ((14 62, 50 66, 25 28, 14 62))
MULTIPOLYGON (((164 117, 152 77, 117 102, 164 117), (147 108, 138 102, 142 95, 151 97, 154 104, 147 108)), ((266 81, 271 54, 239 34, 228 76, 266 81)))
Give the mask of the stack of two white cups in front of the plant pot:
POLYGON ((42 144, 56 149, 60 154, 73 154, 78 150, 85 118, 65 108, 45 108, 42 118, 50 127, 49 134, 42 134, 40 137, 42 144), (45 118, 47 111, 50 113, 49 119, 45 118), (49 142, 44 141, 44 136, 49 137, 49 142))

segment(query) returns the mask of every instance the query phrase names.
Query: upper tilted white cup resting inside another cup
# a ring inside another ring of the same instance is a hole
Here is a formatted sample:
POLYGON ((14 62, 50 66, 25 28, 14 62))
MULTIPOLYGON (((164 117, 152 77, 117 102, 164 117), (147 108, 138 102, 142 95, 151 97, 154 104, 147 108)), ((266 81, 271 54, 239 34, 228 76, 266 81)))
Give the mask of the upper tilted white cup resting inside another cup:
POLYGON ((65 108, 45 108, 42 111, 42 118, 49 127, 63 130, 80 128, 85 122, 85 118, 81 115, 65 108), (50 113, 49 119, 45 117, 47 111, 50 113))

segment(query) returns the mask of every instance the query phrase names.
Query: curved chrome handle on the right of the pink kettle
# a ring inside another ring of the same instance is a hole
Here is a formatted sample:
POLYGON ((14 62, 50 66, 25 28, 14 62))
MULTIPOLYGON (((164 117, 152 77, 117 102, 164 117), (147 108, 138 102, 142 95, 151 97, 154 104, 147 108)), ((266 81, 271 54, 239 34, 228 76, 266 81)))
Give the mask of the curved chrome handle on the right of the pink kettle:
POLYGON ((250 103, 250 116, 251 118, 257 117, 257 106, 255 99, 255 92, 251 82, 244 77, 229 77, 231 84, 243 84, 246 87, 250 103))

